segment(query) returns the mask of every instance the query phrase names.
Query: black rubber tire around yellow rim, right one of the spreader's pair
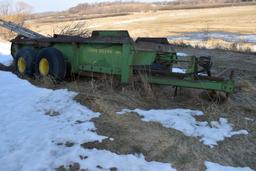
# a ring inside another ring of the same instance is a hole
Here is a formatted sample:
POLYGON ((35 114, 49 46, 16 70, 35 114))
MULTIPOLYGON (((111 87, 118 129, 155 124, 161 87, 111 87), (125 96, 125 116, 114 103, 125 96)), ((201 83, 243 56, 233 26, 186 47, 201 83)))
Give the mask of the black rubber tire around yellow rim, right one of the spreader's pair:
POLYGON ((65 62, 64 55, 55 48, 44 48, 42 49, 35 61, 35 73, 40 76, 52 76, 54 79, 58 81, 62 81, 67 72, 67 65, 65 62), (40 61, 47 60, 49 65, 49 69, 47 74, 42 74, 40 71, 40 61))

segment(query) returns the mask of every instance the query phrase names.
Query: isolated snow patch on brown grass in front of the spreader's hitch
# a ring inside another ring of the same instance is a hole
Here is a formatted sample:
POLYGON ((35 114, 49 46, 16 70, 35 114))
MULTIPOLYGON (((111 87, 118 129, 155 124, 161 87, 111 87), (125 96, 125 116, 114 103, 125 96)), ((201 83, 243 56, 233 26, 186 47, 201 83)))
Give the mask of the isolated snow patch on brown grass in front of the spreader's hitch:
POLYGON ((200 137, 200 141, 211 148, 223 141, 225 137, 233 135, 248 134, 246 130, 233 131, 232 125, 227 119, 220 118, 219 121, 199 122, 194 116, 202 116, 203 112, 190 109, 170 109, 170 110, 129 110, 123 109, 117 114, 135 112, 142 116, 146 122, 159 122, 166 128, 173 128, 183 132, 186 136, 200 137))

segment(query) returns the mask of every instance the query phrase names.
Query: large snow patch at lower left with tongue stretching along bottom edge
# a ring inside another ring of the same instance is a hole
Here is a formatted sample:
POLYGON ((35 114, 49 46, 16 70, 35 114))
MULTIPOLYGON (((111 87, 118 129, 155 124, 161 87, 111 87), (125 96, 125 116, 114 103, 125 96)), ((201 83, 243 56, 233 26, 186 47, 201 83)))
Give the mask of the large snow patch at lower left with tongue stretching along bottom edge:
POLYGON ((0 71, 0 82, 0 170, 51 171, 73 162, 89 170, 175 170, 143 155, 83 149, 81 143, 107 137, 91 122, 100 113, 74 101, 77 93, 38 88, 9 72, 0 71))

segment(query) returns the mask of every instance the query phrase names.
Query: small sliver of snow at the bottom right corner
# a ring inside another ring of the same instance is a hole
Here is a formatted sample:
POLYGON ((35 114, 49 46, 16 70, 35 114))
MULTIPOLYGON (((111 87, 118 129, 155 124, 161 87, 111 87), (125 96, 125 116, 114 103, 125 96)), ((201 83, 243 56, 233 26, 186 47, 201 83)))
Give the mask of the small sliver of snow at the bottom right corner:
POLYGON ((249 167, 230 167, 230 166, 222 166, 217 163, 212 163, 209 161, 204 162, 206 166, 206 171, 253 171, 249 167))

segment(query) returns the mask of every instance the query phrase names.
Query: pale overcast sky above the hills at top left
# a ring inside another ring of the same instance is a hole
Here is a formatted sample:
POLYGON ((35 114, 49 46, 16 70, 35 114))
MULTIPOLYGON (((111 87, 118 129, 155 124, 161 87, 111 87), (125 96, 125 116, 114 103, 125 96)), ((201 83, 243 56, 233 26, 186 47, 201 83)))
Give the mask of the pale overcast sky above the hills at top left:
MULTIPOLYGON (((11 2, 19 0, 9 0, 11 2)), ((62 11, 79 3, 104 2, 109 0, 20 0, 33 6, 33 12, 62 11)), ((161 0, 139 0, 141 2, 152 2, 161 0)))

